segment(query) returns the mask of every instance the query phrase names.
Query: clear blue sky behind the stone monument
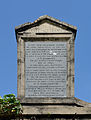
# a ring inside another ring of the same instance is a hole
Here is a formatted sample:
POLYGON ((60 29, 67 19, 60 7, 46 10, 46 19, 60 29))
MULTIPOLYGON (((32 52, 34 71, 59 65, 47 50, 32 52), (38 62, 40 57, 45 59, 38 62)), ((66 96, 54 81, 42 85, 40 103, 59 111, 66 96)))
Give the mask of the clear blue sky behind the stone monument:
POLYGON ((91 0, 0 0, 0 96, 17 96, 15 26, 42 15, 77 26, 75 97, 91 102, 91 0))

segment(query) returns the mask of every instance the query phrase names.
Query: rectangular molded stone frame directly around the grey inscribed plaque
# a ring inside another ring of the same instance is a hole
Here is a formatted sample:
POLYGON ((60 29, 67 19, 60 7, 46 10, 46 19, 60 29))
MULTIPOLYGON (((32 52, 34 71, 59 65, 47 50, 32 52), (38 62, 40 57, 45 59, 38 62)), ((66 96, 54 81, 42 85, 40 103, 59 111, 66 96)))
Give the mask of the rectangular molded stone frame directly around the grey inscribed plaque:
MULTIPOLYGON (((41 35, 30 35, 30 34, 18 34, 17 35, 17 97, 21 102, 28 103, 42 103, 44 99, 49 100, 53 103, 54 99, 60 98, 25 98, 25 42, 30 40, 41 40, 45 39, 59 41, 65 39, 67 42, 67 91, 66 98, 74 97, 74 33, 69 34, 41 34, 41 35), (39 100, 38 100, 39 99, 39 100)), ((63 99, 63 98, 62 98, 63 99)))

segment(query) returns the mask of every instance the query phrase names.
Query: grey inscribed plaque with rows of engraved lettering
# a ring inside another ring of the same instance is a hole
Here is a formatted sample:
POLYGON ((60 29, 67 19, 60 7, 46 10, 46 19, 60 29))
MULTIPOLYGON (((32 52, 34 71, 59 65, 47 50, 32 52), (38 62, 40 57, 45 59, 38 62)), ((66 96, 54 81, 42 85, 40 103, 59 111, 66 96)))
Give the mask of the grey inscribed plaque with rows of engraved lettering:
POLYGON ((66 97, 66 82, 66 42, 25 42, 25 97, 66 97))

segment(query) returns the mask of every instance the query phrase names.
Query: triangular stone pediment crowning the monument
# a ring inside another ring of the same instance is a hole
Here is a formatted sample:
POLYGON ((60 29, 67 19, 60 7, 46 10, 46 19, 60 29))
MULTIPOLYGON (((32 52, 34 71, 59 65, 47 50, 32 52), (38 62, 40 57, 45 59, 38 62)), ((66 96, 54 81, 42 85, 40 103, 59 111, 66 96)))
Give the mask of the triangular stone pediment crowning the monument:
POLYGON ((15 28, 18 32, 24 33, 72 33, 76 34, 77 28, 73 25, 61 22, 58 19, 44 15, 39 17, 33 23, 25 23, 15 28))

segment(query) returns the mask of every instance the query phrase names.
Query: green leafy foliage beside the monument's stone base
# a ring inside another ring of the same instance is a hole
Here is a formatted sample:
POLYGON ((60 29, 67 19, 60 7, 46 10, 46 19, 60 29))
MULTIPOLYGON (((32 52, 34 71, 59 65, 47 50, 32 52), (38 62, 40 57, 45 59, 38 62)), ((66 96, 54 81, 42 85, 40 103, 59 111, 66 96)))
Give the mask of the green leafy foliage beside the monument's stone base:
POLYGON ((0 96, 0 115, 18 115, 22 113, 20 101, 14 94, 0 96))

